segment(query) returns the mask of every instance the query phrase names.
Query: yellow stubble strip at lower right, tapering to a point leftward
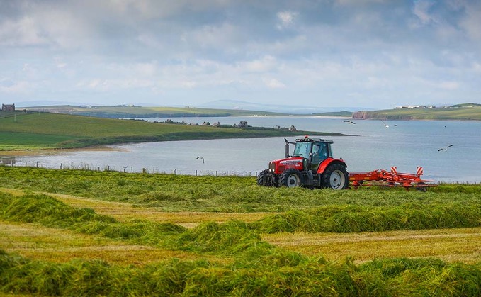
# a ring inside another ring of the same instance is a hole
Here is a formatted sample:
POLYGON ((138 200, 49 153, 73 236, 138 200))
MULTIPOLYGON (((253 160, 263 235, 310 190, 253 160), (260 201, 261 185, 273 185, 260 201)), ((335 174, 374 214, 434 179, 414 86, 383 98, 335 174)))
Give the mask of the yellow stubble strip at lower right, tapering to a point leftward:
POLYGON ((361 233, 283 232, 261 235, 283 249, 330 261, 351 257, 355 263, 375 258, 436 257, 445 262, 481 262, 481 228, 429 229, 361 233))

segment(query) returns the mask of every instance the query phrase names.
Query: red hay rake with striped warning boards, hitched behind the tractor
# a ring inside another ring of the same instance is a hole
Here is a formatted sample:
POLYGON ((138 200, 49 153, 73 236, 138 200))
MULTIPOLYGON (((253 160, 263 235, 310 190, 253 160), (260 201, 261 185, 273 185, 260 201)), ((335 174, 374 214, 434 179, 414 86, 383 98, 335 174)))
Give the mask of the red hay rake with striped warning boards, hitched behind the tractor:
POLYGON ((391 171, 377 169, 372 172, 351 172, 349 173, 349 182, 354 189, 359 186, 403 186, 409 190, 414 187, 419 191, 427 191, 429 186, 435 184, 426 184, 428 180, 421 179, 423 174, 422 167, 417 167, 416 174, 397 172, 396 167, 391 167, 391 171))

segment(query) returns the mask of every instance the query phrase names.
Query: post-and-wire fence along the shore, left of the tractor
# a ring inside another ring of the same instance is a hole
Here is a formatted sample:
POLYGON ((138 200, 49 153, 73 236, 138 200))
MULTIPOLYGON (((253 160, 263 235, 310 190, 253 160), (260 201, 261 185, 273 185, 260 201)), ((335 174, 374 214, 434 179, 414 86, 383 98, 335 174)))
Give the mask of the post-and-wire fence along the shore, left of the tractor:
POLYGON ((109 171, 109 172, 125 172, 125 173, 143 173, 143 174, 174 174, 174 175, 193 175, 193 176, 257 176, 259 172, 243 172, 236 170, 179 170, 179 169, 160 169, 155 167, 142 167, 140 169, 132 166, 115 167, 104 165, 102 167, 92 164, 42 164, 38 161, 34 162, 1 162, 4 166, 11 167, 35 167, 45 169, 75 169, 75 170, 89 170, 89 171, 109 171))

